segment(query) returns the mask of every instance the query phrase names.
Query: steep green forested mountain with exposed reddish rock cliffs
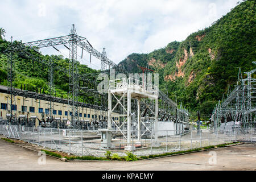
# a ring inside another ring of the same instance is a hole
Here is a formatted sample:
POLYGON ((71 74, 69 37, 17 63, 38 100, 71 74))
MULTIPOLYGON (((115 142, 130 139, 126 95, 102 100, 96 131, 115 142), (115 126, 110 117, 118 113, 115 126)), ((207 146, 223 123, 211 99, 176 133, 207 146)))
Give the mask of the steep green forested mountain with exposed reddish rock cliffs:
POLYGON ((159 73, 160 88, 168 88, 172 100, 182 102, 192 118, 199 110, 203 119, 209 119, 228 86, 236 84, 238 67, 242 72, 255 68, 255 36, 255 1, 245 1, 183 42, 148 54, 132 53, 119 66, 142 72, 138 66, 148 64, 159 73))

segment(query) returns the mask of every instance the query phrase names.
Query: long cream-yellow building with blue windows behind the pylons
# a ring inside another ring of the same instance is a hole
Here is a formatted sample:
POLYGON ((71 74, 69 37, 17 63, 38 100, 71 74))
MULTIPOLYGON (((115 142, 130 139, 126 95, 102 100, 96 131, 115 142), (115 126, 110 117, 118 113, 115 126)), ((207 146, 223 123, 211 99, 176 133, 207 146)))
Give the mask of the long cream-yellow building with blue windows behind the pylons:
MULTIPOLYGON (((10 94, 7 94, 7 87, 0 85, 0 117, 5 119, 7 114, 10 114, 10 94)), ((18 118, 21 115, 26 118, 42 117, 47 118, 50 114, 50 101, 39 100, 35 98, 28 98, 22 96, 13 97, 13 115, 18 118)), ((58 102, 52 102, 52 117, 60 119, 71 119, 71 112, 69 111, 68 104, 62 104, 58 102)), ((79 107, 79 119, 89 120, 102 119, 108 117, 108 111, 96 110, 88 107, 79 107)), ((113 118, 115 121, 119 121, 118 117, 113 118)))

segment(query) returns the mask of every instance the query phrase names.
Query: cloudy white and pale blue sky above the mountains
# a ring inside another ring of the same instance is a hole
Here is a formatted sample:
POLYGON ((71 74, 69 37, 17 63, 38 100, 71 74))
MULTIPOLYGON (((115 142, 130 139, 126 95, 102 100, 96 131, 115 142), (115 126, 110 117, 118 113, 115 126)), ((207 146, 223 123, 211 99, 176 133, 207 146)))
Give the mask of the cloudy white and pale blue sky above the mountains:
MULTIPOLYGON (((148 53, 182 41, 189 34, 210 26, 228 13, 238 0, 97 0, 97 1, 34 1, 2 0, 0 27, 6 30, 6 40, 31 42, 68 35, 72 24, 77 34, 84 36, 94 48, 119 63, 130 53, 148 53)), ((68 55, 64 46, 61 54, 68 55)), ((60 54, 53 48, 43 48, 44 54, 60 54)), ((81 50, 79 49, 79 54, 81 50)), ((100 61, 89 55, 79 59, 94 69, 100 61)))

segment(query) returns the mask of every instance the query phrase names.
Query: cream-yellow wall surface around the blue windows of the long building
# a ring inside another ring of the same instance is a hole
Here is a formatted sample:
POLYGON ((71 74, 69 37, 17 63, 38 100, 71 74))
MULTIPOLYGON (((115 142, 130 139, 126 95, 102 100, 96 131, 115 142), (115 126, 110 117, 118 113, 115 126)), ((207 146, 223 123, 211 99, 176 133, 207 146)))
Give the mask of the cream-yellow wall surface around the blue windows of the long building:
MULTIPOLYGON (((0 117, 2 119, 6 118, 6 114, 10 114, 10 105, 8 105, 9 99, 10 99, 10 94, 0 93, 1 105, 7 104, 7 109, 0 108, 0 111, 1 111, 0 117)), ((16 110, 13 110, 13 114, 16 117, 19 117, 19 115, 26 115, 26 117, 28 118, 30 118, 31 116, 36 116, 39 119, 41 119, 42 114, 44 115, 45 118, 49 116, 49 114, 46 114, 46 109, 50 108, 49 101, 35 100, 34 98, 25 98, 22 96, 15 96, 13 99, 15 100, 13 104, 16 105, 16 110), (27 111, 22 111, 22 106, 27 106, 27 111), (30 107, 34 107, 35 111, 31 112, 30 107), (43 109, 43 113, 39 113, 39 108, 43 109)), ((71 110, 71 108, 69 107, 69 105, 52 102, 52 108, 53 110, 56 110, 56 114, 52 114, 53 118, 71 119, 71 115, 69 113, 69 110, 71 110), (61 114, 59 113, 59 111, 61 111, 61 114), (65 115, 65 111, 68 111, 68 115, 65 115)), ((99 115, 101 115, 101 117, 102 116, 108 117, 108 111, 95 110, 95 109, 90 109, 86 107, 79 107, 79 114, 82 114, 82 116, 79 117, 79 119, 84 119, 89 121, 92 121, 93 119, 95 119, 96 118, 95 115, 97 115, 97 119, 99 118, 99 115)), ((119 118, 114 118, 114 120, 119 121, 119 118)))

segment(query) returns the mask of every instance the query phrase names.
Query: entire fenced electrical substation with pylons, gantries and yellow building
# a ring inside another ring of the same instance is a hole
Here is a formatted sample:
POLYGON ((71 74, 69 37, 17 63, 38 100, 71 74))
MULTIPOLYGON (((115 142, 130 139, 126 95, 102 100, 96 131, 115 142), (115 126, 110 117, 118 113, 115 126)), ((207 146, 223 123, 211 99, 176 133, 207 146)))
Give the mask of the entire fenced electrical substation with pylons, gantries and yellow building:
MULTIPOLYGON (((148 82, 150 74, 131 76, 102 52, 93 48, 88 39, 77 35, 75 25, 69 35, 36 40, 28 43, 11 42, 5 54, 8 60, 8 85, 0 86, 0 133, 9 138, 24 140, 75 155, 104 156, 106 150, 119 155, 125 151, 137 155, 160 154, 188 148, 208 146, 234 140, 236 127, 242 134, 255 135, 254 79, 248 72, 228 98, 213 111, 208 130, 194 129, 189 123, 189 112, 182 104, 172 101, 159 89, 158 83, 148 82), (40 48, 57 46, 68 49, 68 70, 42 60, 40 48), (101 72, 79 73, 77 49, 82 55, 89 53, 101 61, 101 72), (34 51, 32 54, 30 50, 34 51), (15 53, 48 67, 48 90, 30 85, 14 85, 15 53), (122 77, 112 78, 111 69, 122 77), (55 70, 67 73, 69 89, 64 98, 56 97, 55 70), (110 77, 108 92, 98 92, 97 77, 105 73, 110 77), (90 77, 90 78, 89 78, 90 77), (80 96, 93 96, 91 103, 80 96), (222 125, 222 124, 223 125, 222 125)), ((241 77, 241 76, 239 76, 241 77)), ((238 134, 236 133, 236 134, 238 134)))

